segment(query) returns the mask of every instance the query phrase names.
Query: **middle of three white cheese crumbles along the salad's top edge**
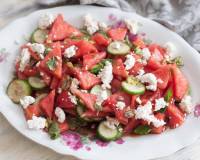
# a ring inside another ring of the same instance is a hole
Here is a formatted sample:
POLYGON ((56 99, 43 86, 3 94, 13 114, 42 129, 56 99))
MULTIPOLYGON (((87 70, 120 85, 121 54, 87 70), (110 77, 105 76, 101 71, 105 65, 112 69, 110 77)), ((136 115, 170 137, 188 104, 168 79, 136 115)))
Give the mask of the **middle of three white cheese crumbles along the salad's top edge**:
POLYGON ((84 17, 84 26, 90 35, 94 34, 96 31, 99 30, 98 23, 93 20, 90 14, 85 15, 84 17))

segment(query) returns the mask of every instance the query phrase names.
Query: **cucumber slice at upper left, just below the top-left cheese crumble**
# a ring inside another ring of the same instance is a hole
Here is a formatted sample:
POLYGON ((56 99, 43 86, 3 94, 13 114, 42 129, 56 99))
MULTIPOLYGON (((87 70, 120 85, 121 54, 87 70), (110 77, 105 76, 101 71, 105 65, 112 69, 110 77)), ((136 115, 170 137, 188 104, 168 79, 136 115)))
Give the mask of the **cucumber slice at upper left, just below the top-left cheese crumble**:
POLYGON ((31 42, 32 43, 44 43, 47 39, 48 31, 37 29, 31 35, 31 42))

